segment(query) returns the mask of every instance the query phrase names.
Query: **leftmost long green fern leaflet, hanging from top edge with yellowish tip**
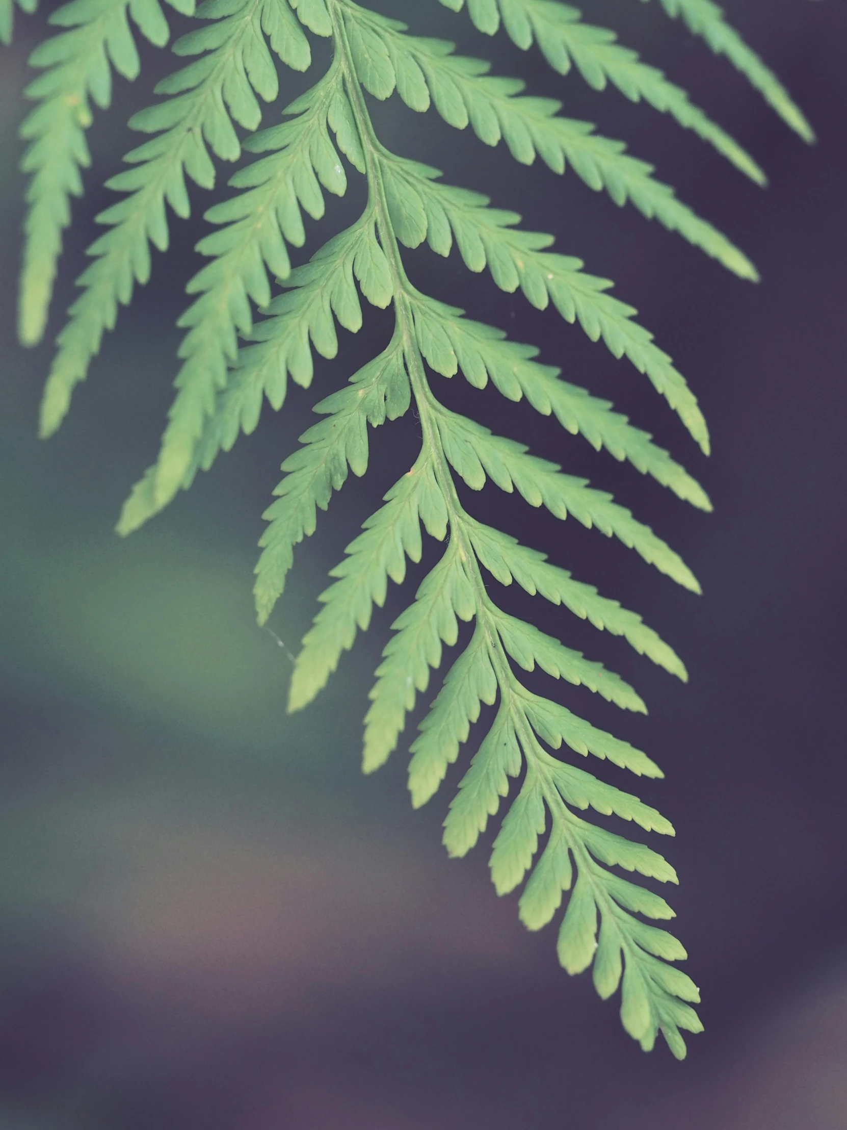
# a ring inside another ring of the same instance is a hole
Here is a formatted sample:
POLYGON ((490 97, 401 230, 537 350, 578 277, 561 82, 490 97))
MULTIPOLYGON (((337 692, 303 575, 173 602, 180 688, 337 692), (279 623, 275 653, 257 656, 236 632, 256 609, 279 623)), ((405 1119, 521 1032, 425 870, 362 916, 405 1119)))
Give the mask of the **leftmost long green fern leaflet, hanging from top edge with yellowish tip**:
MULTIPOLYGON (((168 3, 184 16, 194 11, 194 0, 168 3)), ((20 136, 30 142, 21 168, 32 174, 18 304, 18 337, 27 346, 37 345, 44 334, 62 232, 70 224, 70 198, 82 194, 79 171, 90 164, 85 138, 93 121, 90 103, 101 110, 111 104, 113 67, 130 80, 139 73, 130 16, 150 43, 167 43, 158 0, 71 0, 50 17, 51 24, 70 31, 46 40, 29 56, 29 66, 44 73, 24 92, 41 105, 20 127, 20 136)))

